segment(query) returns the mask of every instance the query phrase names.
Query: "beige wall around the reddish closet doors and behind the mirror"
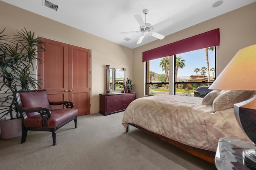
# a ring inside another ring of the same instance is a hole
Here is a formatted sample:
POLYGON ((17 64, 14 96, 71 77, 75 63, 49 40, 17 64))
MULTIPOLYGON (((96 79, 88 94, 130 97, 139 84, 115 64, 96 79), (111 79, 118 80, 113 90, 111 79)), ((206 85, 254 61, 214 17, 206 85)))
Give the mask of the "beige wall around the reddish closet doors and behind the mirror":
POLYGON ((41 37, 91 49, 91 113, 98 113, 98 94, 106 90, 106 64, 127 68, 126 76, 132 77, 132 49, 0 1, 0 30, 5 27, 5 35, 25 27, 41 37))

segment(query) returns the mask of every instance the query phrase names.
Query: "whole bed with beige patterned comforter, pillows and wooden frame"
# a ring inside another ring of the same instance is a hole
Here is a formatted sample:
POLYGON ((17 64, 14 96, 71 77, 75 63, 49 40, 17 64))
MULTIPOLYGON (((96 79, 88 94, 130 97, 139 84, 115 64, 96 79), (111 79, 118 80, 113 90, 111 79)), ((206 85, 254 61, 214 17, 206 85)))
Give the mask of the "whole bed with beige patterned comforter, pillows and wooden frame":
POLYGON ((126 108, 122 125, 126 132, 132 125, 214 164, 219 138, 252 143, 233 111, 234 103, 252 94, 214 90, 204 98, 168 94, 138 98, 126 108))

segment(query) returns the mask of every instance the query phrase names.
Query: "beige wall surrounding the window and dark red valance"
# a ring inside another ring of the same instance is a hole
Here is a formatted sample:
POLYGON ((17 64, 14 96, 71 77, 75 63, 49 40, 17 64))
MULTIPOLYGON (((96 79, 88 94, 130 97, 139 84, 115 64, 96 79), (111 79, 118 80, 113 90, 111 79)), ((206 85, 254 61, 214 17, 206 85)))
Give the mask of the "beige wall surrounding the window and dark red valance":
MULTIPOLYGON (((137 98, 144 96, 144 63, 142 52, 179 41, 212 29, 220 28, 220 46, 216 53, 216 75, 218 76, 234 55, 243 47, 256 44, 256 2, 176 32, 133 50, 133 82, 137 98)), ((170 27, 170 29, 172 29, 170 27)), ((170 79, 171 80, 171 79, 170 79)), ((170 87, 172 88, 172 87, 170 87)))

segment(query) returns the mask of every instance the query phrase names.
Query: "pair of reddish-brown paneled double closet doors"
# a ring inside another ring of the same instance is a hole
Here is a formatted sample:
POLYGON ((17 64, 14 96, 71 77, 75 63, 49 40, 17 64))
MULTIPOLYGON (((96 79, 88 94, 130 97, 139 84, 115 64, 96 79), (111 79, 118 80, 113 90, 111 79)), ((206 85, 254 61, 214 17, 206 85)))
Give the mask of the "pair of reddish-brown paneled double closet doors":
POLYGON ((46 44, 46 51, 39 55, 42 63, 38 63, 38 75, 49 100, 71 101, 78 109, 78 115, 90 114, 90 50, 39 39, 46 44))

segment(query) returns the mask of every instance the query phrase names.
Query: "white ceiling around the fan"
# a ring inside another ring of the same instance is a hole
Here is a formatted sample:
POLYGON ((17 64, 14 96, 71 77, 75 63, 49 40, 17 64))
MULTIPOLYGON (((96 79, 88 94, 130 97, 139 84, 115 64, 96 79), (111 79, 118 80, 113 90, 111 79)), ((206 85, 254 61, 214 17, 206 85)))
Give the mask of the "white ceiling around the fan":
POLYGON ((43 6, 44 0, 2 0, 30 12, 70 25, 114 43, 134 49, 157 38, 146 35, 141 44, 136 44, 142 33, 121 34, 138 31, 134 15, 148 9, 147 22, 155 25, 155 32, 170 35, 197 23, 230 12, 256 0, 48 0, 58 5, 58 11, 43 6), (165 21, 167 20, 167 21, 165 21), (125 41, 124 38, 130 38, 125 41))

